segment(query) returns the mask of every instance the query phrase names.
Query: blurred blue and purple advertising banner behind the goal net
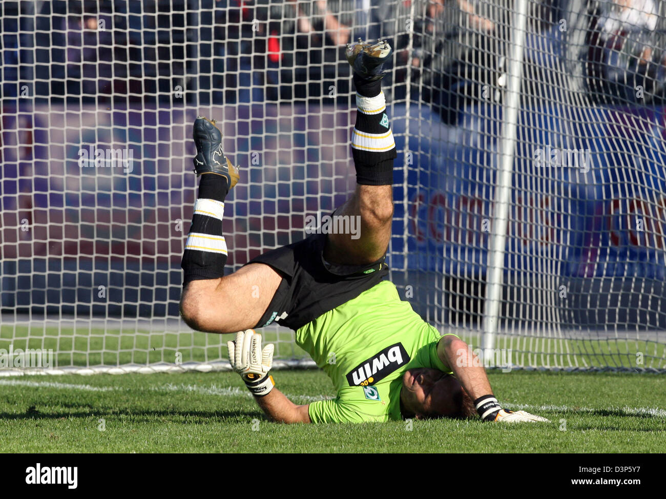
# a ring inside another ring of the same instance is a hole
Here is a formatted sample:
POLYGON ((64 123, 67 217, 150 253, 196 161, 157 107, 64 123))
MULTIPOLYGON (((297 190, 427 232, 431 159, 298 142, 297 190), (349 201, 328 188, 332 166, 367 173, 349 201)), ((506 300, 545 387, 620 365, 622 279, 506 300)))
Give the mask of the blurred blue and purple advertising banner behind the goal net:
MULTIPOLYGON (((354 188, 354 110, 264 104, 214 111, 225 150, 244 173, 224 221, 230 268, 304 237, 307 215, 329 213, 354 188)), ((484 278, 501 108, 470 108, 458 127, 425 107, 410 113, 408 120, 404 107, 392 107, 399 156, 390 264, 395 272, 484 278)), ((195 194, 196 114, 5 107, 2 306, 177 314, 195 194), (91 145, 131 148, 133 168, 82 168, 79 151, 91 145), (98 285, 109 286, 105 304, 95 304, 98 285)), ((664 130, 663 107, 521 110, 507 274, 538 272, 535 262, 548 258, 571 278, 664 280, 664 130), (586 151, 589 169, 539 165, 537 149, 586 151)))

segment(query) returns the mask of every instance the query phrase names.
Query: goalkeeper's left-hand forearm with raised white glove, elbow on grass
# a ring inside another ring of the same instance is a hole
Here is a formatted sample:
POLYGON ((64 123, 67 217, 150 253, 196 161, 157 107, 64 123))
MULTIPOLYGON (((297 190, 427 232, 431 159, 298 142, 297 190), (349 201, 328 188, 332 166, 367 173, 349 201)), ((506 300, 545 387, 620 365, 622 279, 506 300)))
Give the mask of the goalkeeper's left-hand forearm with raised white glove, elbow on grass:
POLYGON ((273 365, 273 345, 261 348, 261 334, 252 329, 236 333, 234 341, 226 342, 229 362, 243 378, 254 400, 266 416, 281 423, 309 423, 309 405, 297 406, 275 388, 268 371, 273 365))

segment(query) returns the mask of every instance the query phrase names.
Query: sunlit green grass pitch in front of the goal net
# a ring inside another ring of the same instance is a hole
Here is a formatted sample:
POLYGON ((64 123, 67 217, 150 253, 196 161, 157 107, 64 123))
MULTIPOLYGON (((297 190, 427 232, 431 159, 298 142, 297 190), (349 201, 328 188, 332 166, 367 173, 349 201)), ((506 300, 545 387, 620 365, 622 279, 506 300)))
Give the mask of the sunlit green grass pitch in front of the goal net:
MULTIPOLYGON (((278 371, 304 404, 334 396, 320 370, 278 371)), ((507 408, 549 424, 479 420, 267 422, 232 372, 0 378, 4 452, 663 452, 666 377, 490 372, 507 408)))

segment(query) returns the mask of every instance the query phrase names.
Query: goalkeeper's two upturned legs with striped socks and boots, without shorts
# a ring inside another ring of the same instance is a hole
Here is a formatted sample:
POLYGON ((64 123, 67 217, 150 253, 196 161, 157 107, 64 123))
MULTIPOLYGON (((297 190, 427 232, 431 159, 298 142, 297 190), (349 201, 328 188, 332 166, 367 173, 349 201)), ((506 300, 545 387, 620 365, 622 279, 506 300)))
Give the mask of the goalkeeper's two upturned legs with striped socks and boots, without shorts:
MULTIPOLYGON (((396 147, 381 92, 382 75, 378 74, 389 57, 390 47, 380 42, 358 48, 362 52, 351 47, 348 50, 353 56, 350 63, 356 64, 358 113, 352 153, 358 185, 336 215, 354 217, 359 226, 355 234, 328 236, 324 258, 338 264, 366 264, 382 258, 388 247, 393 216, 392 167, 396 147)), ((183 255, 187 284, 180 299, 180 313, 194 329, 236 332, 252 328, 261 320, 282 276, 264 264, 250 264, 223 276, 226 243, 221 221, 224 198, 233 187, 234 177, 230 175, 231 169, 220 167, 216 159, 222 136, 214 123, 197 119, 194 130, 198 151, 194 166, 203 178, 183 255)))

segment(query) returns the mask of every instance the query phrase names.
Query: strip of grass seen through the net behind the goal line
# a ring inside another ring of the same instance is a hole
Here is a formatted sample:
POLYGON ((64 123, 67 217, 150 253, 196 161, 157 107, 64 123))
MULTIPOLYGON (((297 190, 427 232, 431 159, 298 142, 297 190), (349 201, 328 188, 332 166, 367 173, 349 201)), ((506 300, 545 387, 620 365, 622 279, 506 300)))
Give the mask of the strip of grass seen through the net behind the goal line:
MULTIPOLYGON (((309 358, 294 342, 294 332, 286 328, 262 328, 264 343, 276 347, 275 358, 309 358)), ((459 333, 470 346, 480 343, 477 336, 459 333)), ((605 366, 666 369, 666 344, 655 340, 625 337, 596 339, 510 338, 498 336, 496 348, 511 353, 513 365, 521 366, 605 366)), ((53 350, 55 366, 123 366, 176 362, 226 360, 228 335, 192 330, 141 330, 119 324, 99 327, 41 325, 0 325, 0 349, 37 348, 53 350)), ((499 359, 497 364, 500 364, 499 359)))

